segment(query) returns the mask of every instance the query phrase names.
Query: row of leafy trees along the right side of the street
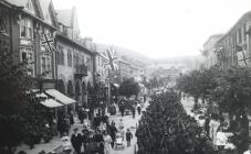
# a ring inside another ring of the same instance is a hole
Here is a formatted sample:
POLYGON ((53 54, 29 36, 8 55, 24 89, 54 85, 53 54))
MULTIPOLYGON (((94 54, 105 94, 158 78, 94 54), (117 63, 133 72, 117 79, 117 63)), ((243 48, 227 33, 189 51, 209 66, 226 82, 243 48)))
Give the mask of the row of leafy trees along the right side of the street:
POLYGON ((232 67, 221 70, 194 70, 177 79, 177 88, 195 98, 216 102, 219 109, 231 114, 247 113, 251 100, 251 69, 232 67))

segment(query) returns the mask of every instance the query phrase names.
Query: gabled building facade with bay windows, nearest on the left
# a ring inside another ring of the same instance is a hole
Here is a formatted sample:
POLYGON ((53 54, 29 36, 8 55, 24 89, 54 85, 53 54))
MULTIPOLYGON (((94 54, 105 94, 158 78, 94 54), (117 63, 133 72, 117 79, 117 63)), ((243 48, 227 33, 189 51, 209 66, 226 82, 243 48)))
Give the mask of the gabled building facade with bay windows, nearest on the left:
POLYGON ((49 42, 54 38, 57 22, 51 0, 6 0, 10 4, 10 51, 15 62, 32 63, 30 74, 40 77, 38 88, 55 88, 55 53, 49 42))

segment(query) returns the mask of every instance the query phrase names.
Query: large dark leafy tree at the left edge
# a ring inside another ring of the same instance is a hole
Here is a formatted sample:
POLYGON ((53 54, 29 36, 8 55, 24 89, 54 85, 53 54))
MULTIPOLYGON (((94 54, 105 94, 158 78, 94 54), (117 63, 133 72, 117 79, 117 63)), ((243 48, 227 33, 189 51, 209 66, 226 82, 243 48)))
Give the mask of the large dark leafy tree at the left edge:
POLYGON ((11 154, 22 141, 33 139, 32 131, 41 134, 48 130, 46 109, 31 91, 35 80, 29 75, 29 65, 32 64, 14 63, 12 53, 0 52, 0 153, 11 154))

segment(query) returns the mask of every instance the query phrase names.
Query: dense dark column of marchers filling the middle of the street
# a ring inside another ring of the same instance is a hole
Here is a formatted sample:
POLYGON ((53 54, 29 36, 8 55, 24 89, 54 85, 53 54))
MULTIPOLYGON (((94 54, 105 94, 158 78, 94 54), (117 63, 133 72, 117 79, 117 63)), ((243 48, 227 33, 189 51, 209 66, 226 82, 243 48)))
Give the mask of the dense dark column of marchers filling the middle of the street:
POLYGON ((151 96, 136 131, 138 154, 213 154, 195 118, 174 89, 151 96))

